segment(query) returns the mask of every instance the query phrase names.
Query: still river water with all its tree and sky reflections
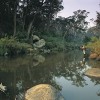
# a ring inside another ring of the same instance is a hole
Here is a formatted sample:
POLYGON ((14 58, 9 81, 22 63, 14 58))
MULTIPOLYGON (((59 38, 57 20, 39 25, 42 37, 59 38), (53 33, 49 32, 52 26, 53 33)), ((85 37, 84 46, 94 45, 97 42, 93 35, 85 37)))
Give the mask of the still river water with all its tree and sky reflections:
POLYGON ((100 79, 88 78, 85 70, 100 67, 100 62, 87 60, 81 64, 83 54, 74 50, 52 55, 0 58, 0 83, 7 86, 0 91, 0 100, 22 100, 24 92, 37 84, 51 84, 65 100, 100 100, 100 79))

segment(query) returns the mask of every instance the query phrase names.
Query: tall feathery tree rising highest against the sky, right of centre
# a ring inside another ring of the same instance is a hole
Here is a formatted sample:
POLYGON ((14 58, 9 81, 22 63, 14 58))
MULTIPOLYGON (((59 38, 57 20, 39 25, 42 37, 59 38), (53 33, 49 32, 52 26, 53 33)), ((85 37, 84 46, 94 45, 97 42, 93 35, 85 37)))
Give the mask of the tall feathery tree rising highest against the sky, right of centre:
POLYGON ((66 19, 67 25, 65 34, 68 37, 67 39, 73 40, 74 42, 82 41, 88 26, 88 22, 86 21, 88 14, 89 12, 86 10, 77 10, 74 12, 73 16, 66 19))

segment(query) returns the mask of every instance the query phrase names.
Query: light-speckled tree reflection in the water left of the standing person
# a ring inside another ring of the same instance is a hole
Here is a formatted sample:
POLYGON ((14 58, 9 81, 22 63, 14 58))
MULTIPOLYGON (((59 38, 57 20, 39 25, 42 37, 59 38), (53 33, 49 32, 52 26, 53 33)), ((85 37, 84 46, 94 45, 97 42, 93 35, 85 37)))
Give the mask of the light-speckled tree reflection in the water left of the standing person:
MULTIPOLYGON (((84 86, 86 85, 84 74, 81 72, 83 67, 80 66, 80 58, 78 59, 79 52, 71 52, 65 55, 61 62, 57 64, 57 76, 63 76, 65 79, 73 82, 73 85, 84 86), (58 73, 57 73, 58 72, 58 73)), ((80 54, 81 55, 81 54, 80 54)))

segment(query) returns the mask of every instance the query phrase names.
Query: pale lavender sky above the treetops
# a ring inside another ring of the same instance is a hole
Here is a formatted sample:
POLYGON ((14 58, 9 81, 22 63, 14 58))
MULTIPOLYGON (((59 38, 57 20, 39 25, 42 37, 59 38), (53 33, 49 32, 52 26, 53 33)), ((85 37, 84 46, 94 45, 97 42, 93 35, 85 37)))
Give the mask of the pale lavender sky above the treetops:
POLYGON ((90 27, 95 24, 90 19, 96 19, 96 11, 100 12, 100 0, 63 0, 64 9, 58 13, 57 16, 69 17, 73 15, 74 11, 86 10, 90 12, 87 21, 90 22, 90 27))

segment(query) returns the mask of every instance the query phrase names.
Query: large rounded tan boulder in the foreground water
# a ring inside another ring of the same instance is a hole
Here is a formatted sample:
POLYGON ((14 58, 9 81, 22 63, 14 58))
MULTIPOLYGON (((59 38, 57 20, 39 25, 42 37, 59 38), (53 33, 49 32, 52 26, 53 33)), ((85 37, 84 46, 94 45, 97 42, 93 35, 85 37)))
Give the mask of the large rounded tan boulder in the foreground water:
POLYGON ((25 100, 64 100, 64 98, 51 85, 40 84, 26 91, 25 100))

